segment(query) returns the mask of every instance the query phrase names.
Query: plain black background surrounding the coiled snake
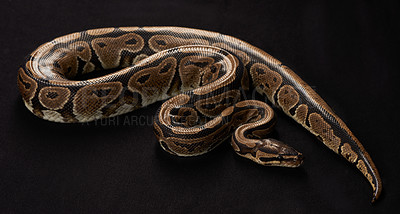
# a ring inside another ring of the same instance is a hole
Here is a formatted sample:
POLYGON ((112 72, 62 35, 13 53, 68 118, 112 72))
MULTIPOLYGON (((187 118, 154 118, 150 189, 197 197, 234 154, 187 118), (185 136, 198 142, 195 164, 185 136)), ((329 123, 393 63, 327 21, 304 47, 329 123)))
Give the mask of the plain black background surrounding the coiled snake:
MULTIPOLYGON (((397 15, 390 1, 2 1, 0 213, 388 213, 400 199, 397 15), (24 57, 51 39, 109 26, 184 26, 243 39, 281 60, 333 107, 380 170, 384 192, 278 112, 297 169, 258 166, 228 143, 178 158, 156 143, 158 104, 58 124, 17 91, 24 57)), ((396 204, 397 203, 397 204, 396 204)))

